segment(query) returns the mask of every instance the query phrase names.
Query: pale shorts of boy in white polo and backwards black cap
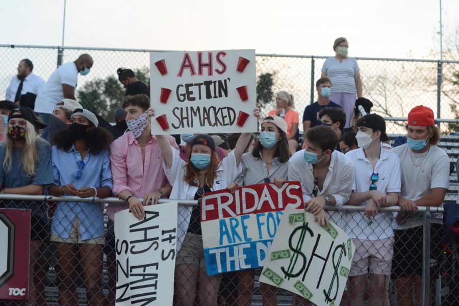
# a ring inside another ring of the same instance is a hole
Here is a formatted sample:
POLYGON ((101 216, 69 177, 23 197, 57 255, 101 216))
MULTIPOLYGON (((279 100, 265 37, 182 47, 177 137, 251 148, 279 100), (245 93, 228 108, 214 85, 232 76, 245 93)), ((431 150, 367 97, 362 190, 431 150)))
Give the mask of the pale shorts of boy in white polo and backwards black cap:
POLYGON ((349 276, 391 275, 394 237, 380 240, 352 239, 355 253, 349 276))

